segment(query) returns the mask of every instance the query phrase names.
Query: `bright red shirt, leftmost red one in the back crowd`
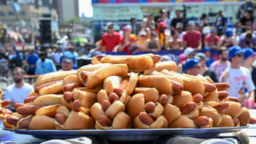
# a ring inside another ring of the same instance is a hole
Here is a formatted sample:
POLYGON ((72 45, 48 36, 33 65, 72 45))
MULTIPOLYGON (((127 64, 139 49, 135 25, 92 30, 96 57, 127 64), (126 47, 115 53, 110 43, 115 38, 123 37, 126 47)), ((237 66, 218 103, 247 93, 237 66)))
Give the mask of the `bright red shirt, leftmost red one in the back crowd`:
POLYGON ((114 47, 118 45, 119 40, 120 35, 117 32, 114 32, 112 36, 110 36, 108 33, 104 33, 100 45, 106 46, 106 51, 112 51, 114 47))

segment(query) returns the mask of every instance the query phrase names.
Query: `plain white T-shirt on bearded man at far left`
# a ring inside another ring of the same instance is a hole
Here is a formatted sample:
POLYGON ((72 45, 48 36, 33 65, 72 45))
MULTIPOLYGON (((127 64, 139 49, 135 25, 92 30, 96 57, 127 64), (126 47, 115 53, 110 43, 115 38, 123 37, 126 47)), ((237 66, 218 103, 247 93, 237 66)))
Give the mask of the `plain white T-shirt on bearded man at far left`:
POLYGON ((16 88, 15 84, 11 84, 6 88, 6 96, 4 99, 14 101, 14 103, 23 103, 28 94, 33 91, 33 86, 24 83, 22 87, 16 88))

